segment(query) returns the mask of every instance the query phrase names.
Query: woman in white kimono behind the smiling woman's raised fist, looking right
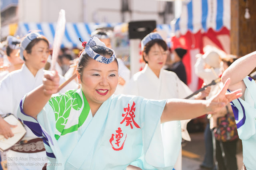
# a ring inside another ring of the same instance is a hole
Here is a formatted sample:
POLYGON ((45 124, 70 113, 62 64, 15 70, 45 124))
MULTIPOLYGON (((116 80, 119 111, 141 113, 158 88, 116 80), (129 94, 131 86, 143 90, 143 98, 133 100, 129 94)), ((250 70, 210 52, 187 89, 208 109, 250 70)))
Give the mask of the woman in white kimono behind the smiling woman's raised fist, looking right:
MULTIPOLYGON (((49 55, 49 43, 45 37, 38 33, 29 33, 22 39, 20 46, 20 58, 25 63, 20 70, 9 73, 0 82, 0 115, 12 113, 16 116, 17 107, 22 97, 42 84, 44 74, 49 72, 43 70, 49 55)), ((65 79, 60 76, 60 84, 63 82, 65 79)), ((62 92, 73 88, 72 84, 69 84, 62 92)), ((0 134, 4 135, 6 139, 14 136, 11 127, 14 126, 0 117, 0 134)), ((27 140, 28 143, 6 151, 7 163, 10 165, 8 170, 42 169, 40 166, 35 166, 35 163, 45 163, 46 152, 42 139, 34 135, 26 125, 25 129, 27 132, 22 141, 27 140), (24 166, 15 166, 12 163, 20 163, 20 165, 24 163, 24 166), (32 164, 26 166, 25 163, 32 164)))

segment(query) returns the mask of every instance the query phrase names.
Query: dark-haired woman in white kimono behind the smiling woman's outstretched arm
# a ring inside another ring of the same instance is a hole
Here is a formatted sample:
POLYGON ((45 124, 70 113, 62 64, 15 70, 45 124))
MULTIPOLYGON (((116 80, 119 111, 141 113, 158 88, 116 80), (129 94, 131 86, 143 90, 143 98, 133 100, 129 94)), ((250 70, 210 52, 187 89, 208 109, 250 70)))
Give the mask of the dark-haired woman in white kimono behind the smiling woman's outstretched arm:
MULTIPOLYGON (((141 47, 143 51, 143 60, 146 63, 146 66, 142 71, 137 72, 132 76, 132 79, 125 87, 124 94, 163 100, 171 98, 184 99, 193 93, 174 72, 163 69, 168 55, 168 47, 158 33, 148 34, 142 39, 141 47)), ((206 95, 207 92, 203 92, 195 96, 195 98, 202 99, 205 98, 206 95)), ((186 129, 189 121, 190 119, 181 121, 182 138, 186 141, 191 141, 186 129)), ((170 134, 174 131, 173 129, 177 129, 178 131, 178 127, 180 127, 179 121, 164 123, 162 124, 162 135, 165 133, 166 137, 170 138, 169 141, 171 141, 173 139, 170 134), (170 132, 170 129, 172 129, 172 132, 170 132)), ((174 169, 182 170, 181 149, 174 169)))

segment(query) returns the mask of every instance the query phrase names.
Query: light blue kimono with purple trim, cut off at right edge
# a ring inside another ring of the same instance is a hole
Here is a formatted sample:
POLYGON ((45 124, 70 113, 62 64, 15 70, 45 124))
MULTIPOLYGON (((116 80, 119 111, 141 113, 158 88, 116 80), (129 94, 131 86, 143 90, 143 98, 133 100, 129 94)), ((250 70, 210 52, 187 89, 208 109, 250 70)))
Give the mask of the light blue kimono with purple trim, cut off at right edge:
POLYGON ((243 162, 247 170, 256 167, 256 83, 250 78, 244 78, 246 90, 244 100, 231 102, 234 112, 238 136, 243 144, 243 162))

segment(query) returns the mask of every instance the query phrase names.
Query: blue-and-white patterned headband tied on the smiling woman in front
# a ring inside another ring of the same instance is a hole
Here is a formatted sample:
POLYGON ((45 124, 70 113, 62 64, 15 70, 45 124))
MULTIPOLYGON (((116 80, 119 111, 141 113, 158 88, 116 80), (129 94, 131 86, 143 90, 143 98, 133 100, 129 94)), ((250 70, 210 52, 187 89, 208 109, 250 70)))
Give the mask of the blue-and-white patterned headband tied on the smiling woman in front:
POLYGON ((106 45, 101 42, 97 37, 92 37, 91 39, 89 39, 89 41, 86 43, 86 46, 84 48, 84 51, 82 52, 82 55, 84 53, 86 53, 88 56, 90 56, 92 59, 100 62, 100 63, 104 63, 104 64, 109 64, 112 63, 112 61, 114 61, 116 59, 116 54, 114 52, 114 50, 106 47, 107 49, 110 49, 111 51, 113 51, 113 55, 110 58, 106 58, 103 57, 101 55, 99 55, 98 53, 95 53, 91 47, 94 46, 102 46, 102 47, 106 47, 106 45))

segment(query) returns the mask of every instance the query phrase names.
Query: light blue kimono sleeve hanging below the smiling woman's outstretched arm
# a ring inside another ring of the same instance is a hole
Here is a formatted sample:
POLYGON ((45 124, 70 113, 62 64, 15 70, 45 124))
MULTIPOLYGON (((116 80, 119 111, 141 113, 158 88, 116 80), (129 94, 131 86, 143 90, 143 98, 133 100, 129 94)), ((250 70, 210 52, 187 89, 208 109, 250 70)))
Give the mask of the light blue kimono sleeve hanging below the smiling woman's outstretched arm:
MULTIPOLYGON (((138 97, 140 98, 140 97, 138 97)), ((174 167, 181 147, 180 121, 160 126, 160 118, 167 100, 146 100, 140 106, 142 122, 142 156, 132 165, 147 170, 170 170, 174 167), (172 129, 172 135, 164 129, 172 129)))

